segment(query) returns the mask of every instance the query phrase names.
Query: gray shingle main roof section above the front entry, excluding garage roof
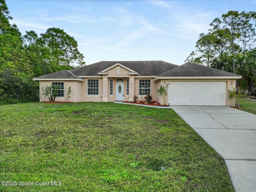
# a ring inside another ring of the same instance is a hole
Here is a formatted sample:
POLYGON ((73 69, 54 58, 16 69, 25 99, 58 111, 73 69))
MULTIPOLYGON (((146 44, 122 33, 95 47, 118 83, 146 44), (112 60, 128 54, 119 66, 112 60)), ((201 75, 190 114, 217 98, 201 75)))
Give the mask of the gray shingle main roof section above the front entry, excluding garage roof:
POLYGON ((138 72, 138 76, 158 76, 167 70, 171 70, 178 66, 164 61, 101 61, 69 71, 63 70, 36 78, 79 78, 78 76, 99 76, 98 72, 117 63, 138 72))

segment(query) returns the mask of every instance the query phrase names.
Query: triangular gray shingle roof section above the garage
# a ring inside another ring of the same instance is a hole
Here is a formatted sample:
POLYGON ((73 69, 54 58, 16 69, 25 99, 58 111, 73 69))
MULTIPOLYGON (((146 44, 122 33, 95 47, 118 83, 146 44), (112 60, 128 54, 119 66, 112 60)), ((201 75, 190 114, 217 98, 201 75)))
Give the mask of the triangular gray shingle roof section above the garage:
POLYGON ((188 62, 172 70, 164 72, 158 77, 196 77, 196 76, 222 77, 222 76, 240 76, 240 75, 188 62))

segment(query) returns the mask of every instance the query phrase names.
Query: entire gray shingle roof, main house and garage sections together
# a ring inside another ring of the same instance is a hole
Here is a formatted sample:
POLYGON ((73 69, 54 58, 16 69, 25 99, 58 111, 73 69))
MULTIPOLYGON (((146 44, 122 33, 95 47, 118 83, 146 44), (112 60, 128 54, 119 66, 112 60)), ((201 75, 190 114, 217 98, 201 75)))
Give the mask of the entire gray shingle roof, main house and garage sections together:
POLYGON ((181 66, 164 61, 101 61, 88 66, 62 70, 36 79, 82 79, 78 76, 99 76, 98 72, 120 63, 131 70, 138 72, 138 76, 158 76, 158 77, 192 77, 192 76, 240 76, 230 72, 194 64, 185 63, 181 66))

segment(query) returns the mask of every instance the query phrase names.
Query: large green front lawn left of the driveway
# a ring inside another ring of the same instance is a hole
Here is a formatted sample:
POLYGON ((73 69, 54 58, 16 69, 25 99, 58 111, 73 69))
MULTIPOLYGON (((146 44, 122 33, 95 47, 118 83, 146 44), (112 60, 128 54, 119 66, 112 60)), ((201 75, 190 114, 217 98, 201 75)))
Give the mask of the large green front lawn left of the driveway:
POLYGON ((233 191, 223 159, 172 109, 110 102, 0 106, 0 178, 34 182, 7 192, 233 191))

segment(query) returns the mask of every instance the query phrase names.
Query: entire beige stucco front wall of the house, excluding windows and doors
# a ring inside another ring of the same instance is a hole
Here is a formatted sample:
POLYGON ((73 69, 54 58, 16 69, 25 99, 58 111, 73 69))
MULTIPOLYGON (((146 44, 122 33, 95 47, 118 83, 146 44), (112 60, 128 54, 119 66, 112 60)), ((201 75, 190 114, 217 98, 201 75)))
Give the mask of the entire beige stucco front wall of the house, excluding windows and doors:
POLYGON ((116 67, 111 68, 108 70, 108 74, 104 74, 102 76, 98 76, 95 78, 83 78, 84 81, 40 81, 40 102, 48 101, 47 98, 42 96, 41 90, 42 87, 48 85, 50 86, 52 82, 64 82, 64 97, 56 97, 55 101, 66 101, 67 98, 67 88, 71 86, 71 93, 70 93, 70 102, 108 102, 108 101, 115 101, 116 100, 116 79, 122 78, 124 80, 124 101, 133 101, 134 95, 138 96, 138 100, 140 101, 141 98, 144 98, 144 95, 139 95, 139 80, 140 79, 150 79, 151 80, 151 87, 150 91, 153 96, 153 100, 163 104, 161 97, 157 94, 157 89, 160 88, 160 85, 164 85, 164 82, 171 83, 173 81, 225 81, 226 82, 226 106, 231 105, 230 96, 227 90, 232 90, 232 87, 235 88, 236 80, 235 79, 186 79, 186 80, 168 80, 168 79, 160 79, 154 81, 154 78, 140 78, 134 75, 128 74, 130 71, 120 67, 119 70, 116 70, 116 67), (88 95, 87 94, 87 80, 88 79, 98 79, 99 80, 99 94, 98 95, 88 95), (113 95, 110 95, 110 79, 113 80, 113 95), (126 94, 126 79, 129 80, 129 94, 126 94), (233 85, 231 85, 233 82, 233 85))

